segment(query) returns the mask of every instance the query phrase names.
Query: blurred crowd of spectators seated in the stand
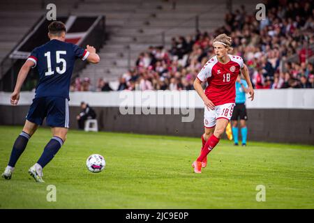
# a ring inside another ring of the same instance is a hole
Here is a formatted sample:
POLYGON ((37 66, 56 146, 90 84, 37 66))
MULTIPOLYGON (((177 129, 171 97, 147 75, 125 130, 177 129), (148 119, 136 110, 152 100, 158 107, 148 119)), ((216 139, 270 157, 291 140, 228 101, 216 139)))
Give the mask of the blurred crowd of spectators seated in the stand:
MULTIPOLYGON (((198 31, 195 36, 172 38, 170 49, 149 47, 138 56, 135 67, 121 75, 117 90, 193 89, 197 73, 214 56, 212 40, 220 33, 232 37, 230 54, 244 59, 255 89, 314 88, 313 17, 312 1, 269 1, 267 17, 261 21, 241 6, 227 13, 225 25, 214 33, 198 31), (293 60, 295 55, 298 58, 293 60)), ((87 79, 78 79, 71 87, 73 91, 112 90, 103 79, 95 89, 87 79)))

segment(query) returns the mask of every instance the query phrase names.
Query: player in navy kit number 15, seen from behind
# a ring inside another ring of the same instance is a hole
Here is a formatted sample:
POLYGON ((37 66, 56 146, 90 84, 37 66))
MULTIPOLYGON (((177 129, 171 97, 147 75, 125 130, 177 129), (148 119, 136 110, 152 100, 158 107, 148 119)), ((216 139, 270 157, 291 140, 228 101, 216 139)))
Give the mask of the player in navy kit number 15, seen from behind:
POLYGON ((29 70, 37 66, 39 82, 36 94, 26 117, 24 128, 15 140, 8 166, 2 177, 9 180, 15 169, 15 164, 27 146, 30 137, 36 132, 38 125, 46 123, 51 127, 52 139, 45 146, 39 160, 29 169, 29 174, 43 183, 43 168, 57 154, 66 141, 68 132, 69 113, 68 100, 70 78, 75 59, 98 63, 100 58, 96 49, 87 45, 83 49, 72 43, 66 43, 66 26, 62 22, 52 22, 48 26, 50 41, 36 47, 24 63, 17 76, 14 92, 10 97, 12 105, 17 105, 20 99, 20 89, 29 70))

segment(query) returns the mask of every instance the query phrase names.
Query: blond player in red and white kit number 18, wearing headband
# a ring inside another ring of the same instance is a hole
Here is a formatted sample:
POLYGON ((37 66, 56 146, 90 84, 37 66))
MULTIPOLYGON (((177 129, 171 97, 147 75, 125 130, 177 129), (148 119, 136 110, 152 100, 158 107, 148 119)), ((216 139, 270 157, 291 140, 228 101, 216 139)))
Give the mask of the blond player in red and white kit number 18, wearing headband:
POLYGON ((232 116, 235 105, 235 82, 242 72, 248 83, 249 98, 254 99, 253 86, 248 75, 248 68, 241 56, 228 54, 232 39, 220 34, 213 41, 216 56, 204 65, 197 75, 194 88, 204 101, 204 134, 200 156, 193 162, 194 172, 200 174, 207 166, 208 153, 218 144, 232 116), (202 82, 208 86, 203 91, 202 82))

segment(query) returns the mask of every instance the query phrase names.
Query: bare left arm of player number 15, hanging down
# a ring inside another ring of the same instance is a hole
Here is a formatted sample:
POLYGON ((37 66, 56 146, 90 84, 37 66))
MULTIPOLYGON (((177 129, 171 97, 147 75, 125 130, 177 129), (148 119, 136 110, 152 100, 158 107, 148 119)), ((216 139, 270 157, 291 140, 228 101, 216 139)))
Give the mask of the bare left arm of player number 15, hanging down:
POLYGON ((14 91, 10 97, 10 102, 12 105, 17 105, 17 103, 19 102, 20 91, 21 91, 22 85, 23 85, 25 79, 27 78, 27 75, 29 74, 29 70, 31 70, 31 68, 35 65, 36 65, 36 63, 34 63, 33 61, 27 60, 24 63, 24 65, 22 66, 22 68, 20 69, 20 72, 17 75, 17 81, 15 84, 15 89, 14 89, 14 91))

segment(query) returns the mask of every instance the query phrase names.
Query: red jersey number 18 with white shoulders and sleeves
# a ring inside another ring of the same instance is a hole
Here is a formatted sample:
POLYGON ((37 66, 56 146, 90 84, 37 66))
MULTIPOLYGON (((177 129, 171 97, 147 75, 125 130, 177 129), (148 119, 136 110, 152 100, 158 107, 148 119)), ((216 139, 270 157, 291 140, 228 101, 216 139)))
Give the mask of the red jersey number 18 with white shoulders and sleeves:
POLYGON ((235 102, 235 82, 244 62, 241 56, 228 56, 230 61, 225 64, 213 56, 197 75, 201 82, 208 83, 205 95, 215 106, 235 102))

